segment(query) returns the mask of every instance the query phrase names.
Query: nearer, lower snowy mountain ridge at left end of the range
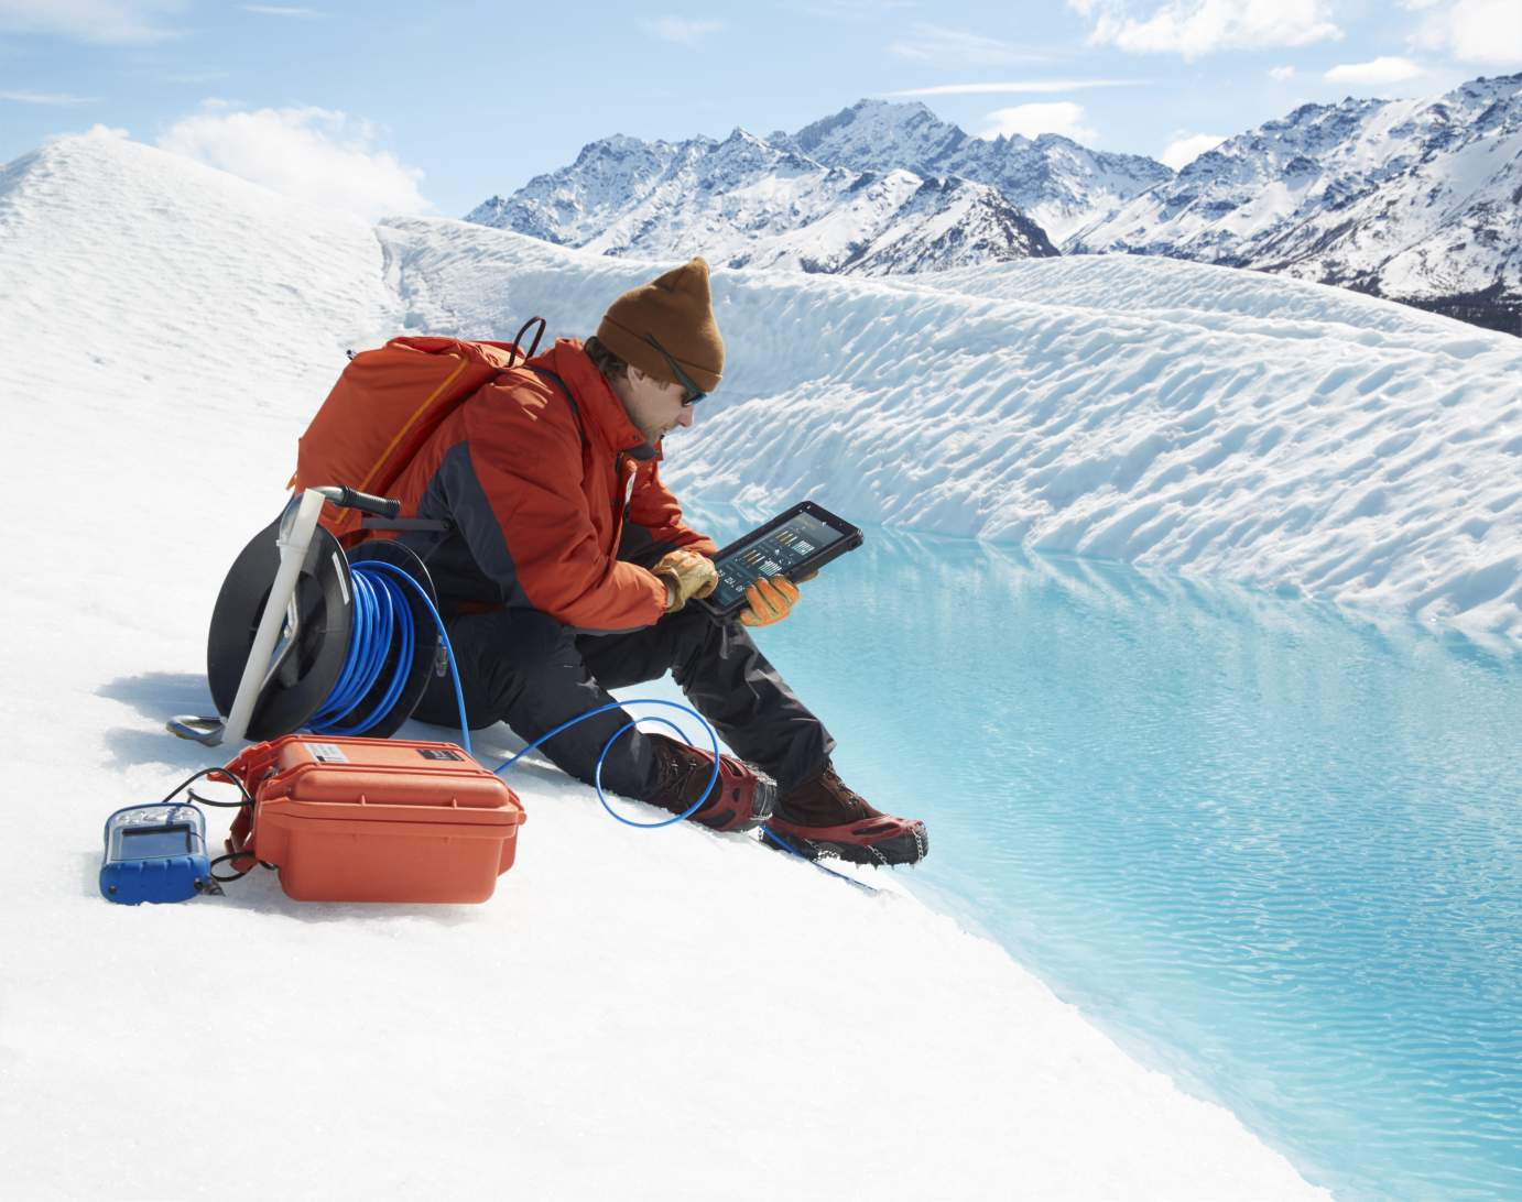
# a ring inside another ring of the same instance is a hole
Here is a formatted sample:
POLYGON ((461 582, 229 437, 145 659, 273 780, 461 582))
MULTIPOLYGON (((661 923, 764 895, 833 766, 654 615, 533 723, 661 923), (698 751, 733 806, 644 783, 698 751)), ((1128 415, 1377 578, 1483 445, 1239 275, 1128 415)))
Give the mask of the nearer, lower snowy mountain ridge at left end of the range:
POLYGON ((723 142, 609 137, 493 196, 467 221, 610 256, 702 254, 728 266, 842 275, 1055 256, 997 189, 833 167, 735 129, 723 142))

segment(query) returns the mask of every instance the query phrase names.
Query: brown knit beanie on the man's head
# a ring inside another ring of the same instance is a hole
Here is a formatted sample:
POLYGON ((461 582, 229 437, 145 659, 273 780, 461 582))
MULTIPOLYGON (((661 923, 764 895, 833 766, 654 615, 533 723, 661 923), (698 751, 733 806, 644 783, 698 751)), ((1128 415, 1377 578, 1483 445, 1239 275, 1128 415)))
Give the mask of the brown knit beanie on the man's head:
POLYGON ((597 327, 598 341, 626 364, 658 380, 679 383, 661 351, 645 341, 647 335, 653 335, 705 393, 718 388, 724 374, 724 339, 714 323, 706 262, 694 259, 626 292, 607 307, 597 327))

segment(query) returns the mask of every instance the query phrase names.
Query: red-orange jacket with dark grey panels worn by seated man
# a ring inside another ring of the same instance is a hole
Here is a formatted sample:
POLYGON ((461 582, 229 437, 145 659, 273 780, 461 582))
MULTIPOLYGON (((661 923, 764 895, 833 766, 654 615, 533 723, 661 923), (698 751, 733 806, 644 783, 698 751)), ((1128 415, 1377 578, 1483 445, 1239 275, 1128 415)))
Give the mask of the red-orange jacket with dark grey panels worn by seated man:
POLYGON ((444 418, 393 493, 405 514, 452 525, 417 545, 446 613, 531 606, 578 630, 633 630, 665 613, 656 558, 717 549, 683 525, 659 459, 581 344, 559 339, 444 418))

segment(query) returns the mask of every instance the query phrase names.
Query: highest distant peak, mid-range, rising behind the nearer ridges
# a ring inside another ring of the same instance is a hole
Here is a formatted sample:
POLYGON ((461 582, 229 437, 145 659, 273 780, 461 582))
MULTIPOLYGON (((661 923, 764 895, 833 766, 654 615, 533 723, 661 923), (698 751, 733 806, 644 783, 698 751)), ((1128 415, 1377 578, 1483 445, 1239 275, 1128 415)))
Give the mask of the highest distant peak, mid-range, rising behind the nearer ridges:
POLYGON ((922 103, 858 100, 796 134, 773 134, 820 163, 948 175, 998 189, 1058 245, 1173 172, 1145 155, 1106 154, 1059 134, 976 138, 922 103))

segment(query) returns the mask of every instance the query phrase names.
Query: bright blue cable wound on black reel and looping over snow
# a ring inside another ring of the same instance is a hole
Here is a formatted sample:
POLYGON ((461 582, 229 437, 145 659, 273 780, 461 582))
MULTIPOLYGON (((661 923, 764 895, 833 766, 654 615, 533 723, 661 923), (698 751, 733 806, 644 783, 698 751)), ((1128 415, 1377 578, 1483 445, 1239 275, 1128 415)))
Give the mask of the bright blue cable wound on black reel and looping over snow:
MULTIPOLYGON (((327 700, 323 701, 318 712, 307 723, 307 727, 320 735, 364 735, 365 730, 391 712, 391 706, 396 704, 397 697, 402 694, 402 688, 406 685, 406 676, 412 665, 412 651, 417 645, 417 631, 412 627, 412 609, 406 604, 406 595, 397 583, 400 581, 408 584, 412 592, 423 598, 423 604, 434 618, 434 625, 438 627, 438 638, 443 641, 444 654, 449 657, 449 674, 455 685, 455 701, 460 704, 460 741, 466 749, 466 753, 475 756, 475 752, 470 750, 470 729, 466 724, 466 697, 464 691, 460 688, 460 669, 455 666, 455 648, 449 644, 449 633, 444 630, 444 619, 440 616, 432 598, 429 598, 428 590, 419 584, 405 568, 387 563, 385 560, 361 560, 359 563, 353 563, 350 564, 350 577, 355 586, 355 618, 353 634, 349 641, 349 653, 344 656, 344 666, 338 676, 338 683, 327 695, 327 700), (385 694, 376 703, 374 709, 371 709, 364 718, 356 718, 349 726, 336 726, 336 723, 341 723, 355 711, 355 708, 379 682, 387 654, 391 650, 393 638, 400 638, 402 645, 396 669, 391 673, 391 680, 387 685, 385 694)), ((691 714, 708 732, 708 739, 714 749, 714 765, 708 774, 708 788, 705 788, 702 796, 680 814, 674 814, 673 817, 662 819, 659 822, 635 822, 633 819, 626 819, 613 809, 612 805, 609 805, 607 794, 603 793, 603 762, 607 759, 607 753, 613 749, 618 738, 626 730, 630 730, 638 724, 635 721, 627 721, 609 735, 607 743, 603 744, 603 753, 597 758, 597 770, 592 776, 592 787, 597 790, 597 799, 603 803, 603 809, 626 826, 639 826, 647 831, 658 826, 670 826, 674 822, 682 822, 683 819, 691 817, 702 808, 703 802, 708 800, 708 796, 714 791, 714 785, 718 782, 718 735, 702 714, 691 706, 683 706, 680 701, 667 701, 659 697, 636 697, 629 701, 610 701, 606 706, 589 709, 586 714, 580 714, 569 721, 560 723, 560 726, 554 730, 540 735, 493 771, 507 771, 507 768, 513 767, 519 759, 546 739, 559 735, 562 730, 568 730, 577 723, 584 723, 587 718, 595 718, 598 714, 607 714, 609 711, 622 709, 624 706, 667 706, 670 709, 682 709, 691 714)), ((670 726, 683 743, 686 741, 686 735, 682 732, 682 727, 670 718, 650 718, 648 721, 670 726)))

